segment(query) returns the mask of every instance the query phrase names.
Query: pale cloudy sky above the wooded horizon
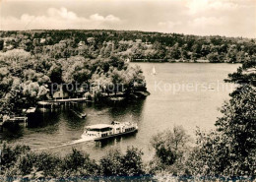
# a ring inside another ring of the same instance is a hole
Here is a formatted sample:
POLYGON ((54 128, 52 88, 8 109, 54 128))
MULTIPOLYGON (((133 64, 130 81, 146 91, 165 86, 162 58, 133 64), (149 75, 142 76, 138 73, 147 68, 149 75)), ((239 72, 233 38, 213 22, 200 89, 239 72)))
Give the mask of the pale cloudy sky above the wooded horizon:
POLYGON ((0 30, 67 29, 256 38, 256 0, 0 0, 0 30))

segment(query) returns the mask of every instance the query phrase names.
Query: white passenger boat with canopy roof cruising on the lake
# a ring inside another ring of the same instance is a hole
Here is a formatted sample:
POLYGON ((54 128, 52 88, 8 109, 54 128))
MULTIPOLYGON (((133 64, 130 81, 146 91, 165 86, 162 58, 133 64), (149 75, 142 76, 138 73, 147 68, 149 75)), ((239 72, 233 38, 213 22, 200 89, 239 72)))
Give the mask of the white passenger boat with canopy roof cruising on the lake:
POLYGON ((88 141, 99 141, 111 137, 134 133, 136 131, 138 131, 138 125, 136 123, 119 123, 113 121, 111 124, 96 124, 87 126, 82 138, 88 141))

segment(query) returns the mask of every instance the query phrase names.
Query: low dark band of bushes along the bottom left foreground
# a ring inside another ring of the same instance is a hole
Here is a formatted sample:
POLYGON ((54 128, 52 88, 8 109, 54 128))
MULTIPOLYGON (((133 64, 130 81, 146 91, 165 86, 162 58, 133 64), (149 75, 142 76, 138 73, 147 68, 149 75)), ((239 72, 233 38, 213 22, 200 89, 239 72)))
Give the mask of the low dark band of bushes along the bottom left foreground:
POLYGON ((65 157, 41 152, 35 153, 25 146, 1 148, 1 176, 4 179, 68 179, 100 176, 142 176, 145 174, 142 163, 142 152, 136 148, 128 148, 122 154, 112 151, 98 162, 89 154, 73 149, 65 157))

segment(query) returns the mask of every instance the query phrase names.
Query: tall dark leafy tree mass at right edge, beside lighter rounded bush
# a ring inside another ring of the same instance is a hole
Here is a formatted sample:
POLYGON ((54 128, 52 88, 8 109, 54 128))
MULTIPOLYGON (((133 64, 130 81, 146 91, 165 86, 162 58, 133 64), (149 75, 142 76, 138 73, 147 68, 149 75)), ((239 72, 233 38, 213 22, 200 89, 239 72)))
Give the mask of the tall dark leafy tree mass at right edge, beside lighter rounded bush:
POLYGON ((245 62, 228 82, 240 84, 221 109, 216 131, 199 132, 198 146, 191 153, 194 175, 256 177, 256 89, 255 61, 245 62))

